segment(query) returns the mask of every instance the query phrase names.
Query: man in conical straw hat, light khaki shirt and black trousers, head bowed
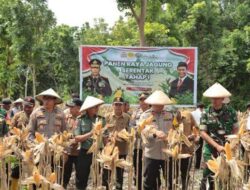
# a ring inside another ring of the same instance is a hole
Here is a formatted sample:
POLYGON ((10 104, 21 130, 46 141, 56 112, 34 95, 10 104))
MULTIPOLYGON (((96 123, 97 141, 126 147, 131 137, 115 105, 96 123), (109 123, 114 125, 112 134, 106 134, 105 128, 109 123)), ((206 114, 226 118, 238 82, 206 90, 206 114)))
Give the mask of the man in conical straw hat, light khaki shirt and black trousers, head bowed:
POLYGON ((164 110, 165 105, 172 104, 169 97, 162 91, 155 91, 146 100, 145 103, 152 107, 141 115, 142 119, 147 119, 153 116, 152 126, 146 126, 142 134, 147 139, 145 144, 145 158, 144 158, 144 190, 157 190, 161 186, 160 169, 163 173, 169 173, 169 189, 172 188, 172 170, 169 164, 169 170, 166 171, 166 154, 162 149, 166 148, 164 140, 167 137, 168 131, 172 128, 173 114, 164 110), (154 132, 150 130, 154 128, 154 132))

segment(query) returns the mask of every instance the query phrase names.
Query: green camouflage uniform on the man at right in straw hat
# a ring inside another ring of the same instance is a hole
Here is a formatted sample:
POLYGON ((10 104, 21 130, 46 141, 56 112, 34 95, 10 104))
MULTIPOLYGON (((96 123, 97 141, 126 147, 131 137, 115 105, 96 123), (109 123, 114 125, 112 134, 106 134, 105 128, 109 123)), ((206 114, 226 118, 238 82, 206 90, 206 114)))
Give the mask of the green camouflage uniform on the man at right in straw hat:
MULTIPOLYGON (((215 110, 213 107, 208 107, 205 113, 202 114, 200 130, 205 131, 214 141, 224 146, 225 135, 230 135, 233 132, 234 127, 237 123, 237 115, 233 108, 223 105, 220 110, 215 110)), ((212 159, 218 156, 217 150, 209 145, 205 144, 203 150, 204 161, 212 159)), ((209 189, 214 189, 212 172, 205 168, 203 170, 203 179, 201 181, 201 190, 206 189, 207 179, 209 180, 209 189)))

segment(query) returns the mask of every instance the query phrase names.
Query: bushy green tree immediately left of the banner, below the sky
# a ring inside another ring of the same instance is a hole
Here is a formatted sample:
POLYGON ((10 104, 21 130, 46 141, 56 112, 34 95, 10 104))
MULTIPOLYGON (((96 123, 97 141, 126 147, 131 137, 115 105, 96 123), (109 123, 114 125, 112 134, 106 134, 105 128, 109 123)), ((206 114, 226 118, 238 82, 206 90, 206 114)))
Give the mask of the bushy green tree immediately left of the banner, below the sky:
POLYGON ((76 27, 60 25, 53 27, 45 34, 46 55, 42 69, 47 72, 40 72, 38 79, 45 80, 46 84, 41 83, 40 88, 53 86, 62 94, 77 92, 79 89, 76 32, 76 27))

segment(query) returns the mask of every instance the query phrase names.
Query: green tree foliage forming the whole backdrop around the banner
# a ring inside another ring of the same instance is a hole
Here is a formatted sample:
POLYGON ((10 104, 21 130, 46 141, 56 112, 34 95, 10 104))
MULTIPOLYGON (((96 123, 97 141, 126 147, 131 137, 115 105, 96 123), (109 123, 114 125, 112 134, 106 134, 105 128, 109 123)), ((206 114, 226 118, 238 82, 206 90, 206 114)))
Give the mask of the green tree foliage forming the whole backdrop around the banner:
MULTIPOLYGON (((35 76, 37 92, 52 87, 69 97, 79 89, 79 45, 138 46, 138 23, 131 7, 139 16, 141 1, 117 3, 127 14, 113 27, 100 18, 93 26, 76 28, 56 26, 46 1, 0 0, 0 95, 24 96, 29 71, 28 94, 35 76)), ((198 102, 216 81, 233 94, 231 104, 237 109, 249 101, 249 1, 147 0, 146 9, 148 46, 198 47, 198 102)), ((168 83, 161 84, 166 93, 168 83)), ((188 94, 180 99, 191 100, 188 94)), ((113 97, 105 100, 111 102, 113 97)))

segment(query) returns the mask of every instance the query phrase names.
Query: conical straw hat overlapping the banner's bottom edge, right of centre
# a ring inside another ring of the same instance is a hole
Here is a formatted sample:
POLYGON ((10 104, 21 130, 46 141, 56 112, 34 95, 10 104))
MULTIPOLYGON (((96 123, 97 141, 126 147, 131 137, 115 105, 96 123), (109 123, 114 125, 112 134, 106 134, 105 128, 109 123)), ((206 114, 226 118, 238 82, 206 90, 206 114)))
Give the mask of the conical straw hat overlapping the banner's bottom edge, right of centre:
POLYGON ((167 105, 173 104, 170 98, 162 91, 156 90, 151 94, 146 100, 145 103, 150 105, 167 105))

